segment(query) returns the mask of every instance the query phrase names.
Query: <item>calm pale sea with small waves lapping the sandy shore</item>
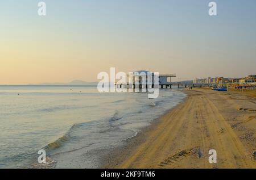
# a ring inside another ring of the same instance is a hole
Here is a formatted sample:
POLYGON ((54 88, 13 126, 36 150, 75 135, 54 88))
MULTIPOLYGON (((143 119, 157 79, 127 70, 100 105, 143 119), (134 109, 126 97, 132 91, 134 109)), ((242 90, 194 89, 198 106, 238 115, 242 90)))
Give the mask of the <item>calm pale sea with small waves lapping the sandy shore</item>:
POLYGON ((97 168, 90 152, 137 135, 185 94, 163 89, 147 97, 98 93, 95 85, 0 86, 0 168, 30 168, 39 149, 55 168, 97 168))

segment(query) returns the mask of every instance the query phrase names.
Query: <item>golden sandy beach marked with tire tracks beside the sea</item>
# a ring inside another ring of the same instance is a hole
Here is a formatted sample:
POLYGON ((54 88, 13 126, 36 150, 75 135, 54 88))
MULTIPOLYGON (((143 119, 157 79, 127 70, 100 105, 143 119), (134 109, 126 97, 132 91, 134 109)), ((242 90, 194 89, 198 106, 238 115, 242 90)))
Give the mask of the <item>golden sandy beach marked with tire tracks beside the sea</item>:
POLYGON ((106 154, 102 168, 256 168, 255 91, 183 91, 183 103, 106 154))

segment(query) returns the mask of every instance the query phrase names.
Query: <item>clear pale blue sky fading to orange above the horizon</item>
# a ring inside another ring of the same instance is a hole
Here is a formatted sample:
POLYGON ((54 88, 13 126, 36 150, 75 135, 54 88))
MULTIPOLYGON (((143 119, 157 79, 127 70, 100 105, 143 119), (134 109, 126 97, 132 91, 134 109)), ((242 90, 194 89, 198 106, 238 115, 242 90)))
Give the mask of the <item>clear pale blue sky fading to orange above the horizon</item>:
POLYGON ((256 74, 256 1, 0 1, 0 84, 150 70, 183 81, 256 74))

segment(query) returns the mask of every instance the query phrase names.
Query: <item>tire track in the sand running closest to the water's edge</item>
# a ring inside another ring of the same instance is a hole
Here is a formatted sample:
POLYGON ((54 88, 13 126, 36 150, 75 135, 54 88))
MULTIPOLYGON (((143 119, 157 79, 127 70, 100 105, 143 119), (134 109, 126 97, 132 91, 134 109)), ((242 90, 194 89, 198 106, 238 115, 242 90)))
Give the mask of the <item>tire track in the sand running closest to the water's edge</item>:
MULTIPOLYGON (((191 97, 188 97, 190 99, 191 97)), ((166 118, 167 121, 161 122, 158 129, 149 137, 151 140, 146 141, 137 149, 132 156, 130 156, 118 168, 152 168, 158 166, 159 157, 163 153, 164 148, 169 148, 172 140, 176 137, 177 132, 181 128, 186 114, 180 114, 180 111, 187 112, 192 106, 192 101, 181 104, 179 109, 175 109, 166 118), (168 125, 167 125, 168 123, 168 125)))

